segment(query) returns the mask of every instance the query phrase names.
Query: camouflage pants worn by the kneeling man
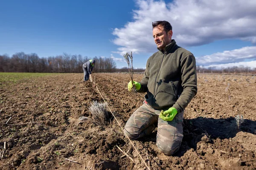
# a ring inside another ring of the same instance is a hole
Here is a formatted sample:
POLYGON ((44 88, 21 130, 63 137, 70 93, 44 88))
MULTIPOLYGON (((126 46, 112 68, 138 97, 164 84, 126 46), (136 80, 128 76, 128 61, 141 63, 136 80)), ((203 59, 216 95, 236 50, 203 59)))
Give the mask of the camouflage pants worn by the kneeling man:
POLYGON ((125 125, 125 136, 135 140, 149 135, 158 121, 157 147, 166 155, 172 155, 180 148, 183 138, 183 113, 178 113, 172 121, 159 118, 160 111, 144 103, 128 119, 125 125))

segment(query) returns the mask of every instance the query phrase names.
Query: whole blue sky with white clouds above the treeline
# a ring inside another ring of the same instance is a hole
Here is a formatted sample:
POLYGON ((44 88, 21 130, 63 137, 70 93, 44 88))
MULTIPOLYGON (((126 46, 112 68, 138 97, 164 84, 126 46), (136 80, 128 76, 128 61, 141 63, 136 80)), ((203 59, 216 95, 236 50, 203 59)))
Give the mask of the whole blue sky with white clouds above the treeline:
POLYGON ((151 23, 167 20, 197 65, 253 68, 255 9, 255 0, 0 0, 0 54, 112 57, 121 68, 133 51, 134 67, 145 68, 157 51, 151 23))

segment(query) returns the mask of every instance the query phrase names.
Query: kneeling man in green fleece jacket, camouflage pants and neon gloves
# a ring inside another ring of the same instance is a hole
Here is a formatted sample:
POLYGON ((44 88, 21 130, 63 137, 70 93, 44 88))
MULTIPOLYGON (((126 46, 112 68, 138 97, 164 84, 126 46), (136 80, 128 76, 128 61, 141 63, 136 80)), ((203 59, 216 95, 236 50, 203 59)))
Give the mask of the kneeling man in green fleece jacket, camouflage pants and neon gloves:
POLYGON ((172 40, 172 26, 167 21, 152 23, 158 51, 148 58, 144 77, 133 84, 147 93, 143 105, 128 119, 124 133, 131 140, 149 135, 157 123, 157 147, 166 155, 179 150, 183 138, 183 113, 197 94, 194 55, 172 40))

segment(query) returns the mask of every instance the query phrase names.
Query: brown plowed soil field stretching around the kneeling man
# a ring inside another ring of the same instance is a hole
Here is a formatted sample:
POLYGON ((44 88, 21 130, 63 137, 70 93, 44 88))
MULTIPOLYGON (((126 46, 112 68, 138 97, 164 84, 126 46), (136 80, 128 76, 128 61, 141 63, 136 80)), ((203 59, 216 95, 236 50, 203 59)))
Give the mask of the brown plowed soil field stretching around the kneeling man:
MULTIPOLYGON (((125 126, 145 94, 128 92, 129 74, 93 74, 96 85, 82 77, 58 74, 0 86, 0 170, 147 169, 118 125, 125 126), (101 95, 118 122, 90 121, 89 107, 104 103, 101 95)), ((256 169, 255 76, 198 74, 198 94, 183 121, 183 142, 173 156, 158 150, 157 127, 132 141, 151 170, 256 169), (237 115, 244 119, 239 128, 237 115)))

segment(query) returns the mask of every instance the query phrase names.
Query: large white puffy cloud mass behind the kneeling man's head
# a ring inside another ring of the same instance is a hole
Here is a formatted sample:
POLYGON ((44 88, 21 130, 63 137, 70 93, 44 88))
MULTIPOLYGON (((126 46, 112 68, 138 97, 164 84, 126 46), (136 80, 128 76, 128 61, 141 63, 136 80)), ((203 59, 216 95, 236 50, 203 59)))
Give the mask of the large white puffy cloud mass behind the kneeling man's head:
POLYGON ((173 38, 182 47, 203 45, 215 40, 236 38, 256 43, 256 0, 137 0, 133 21, 115 28, 113 43, 123 55, 155 52, 151 23, 167 20, 173 38))

